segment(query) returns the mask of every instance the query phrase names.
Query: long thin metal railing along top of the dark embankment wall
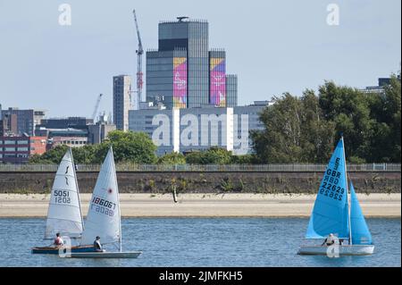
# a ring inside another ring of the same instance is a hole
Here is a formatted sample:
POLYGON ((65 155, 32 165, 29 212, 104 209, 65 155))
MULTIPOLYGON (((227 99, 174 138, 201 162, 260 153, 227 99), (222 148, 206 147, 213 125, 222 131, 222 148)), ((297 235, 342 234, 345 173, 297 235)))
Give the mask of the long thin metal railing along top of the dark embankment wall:
MULTIPOLYGON (((348 172, 400 172, 400 163, 348 164, 348 172)), ((116 164, 117 172, 324 172, 326 164, 116 164)), ((57 164, 0 164, 0 172, 56 172, 57 164)), ((99 172, 77 164, 77 172, 99 172)))

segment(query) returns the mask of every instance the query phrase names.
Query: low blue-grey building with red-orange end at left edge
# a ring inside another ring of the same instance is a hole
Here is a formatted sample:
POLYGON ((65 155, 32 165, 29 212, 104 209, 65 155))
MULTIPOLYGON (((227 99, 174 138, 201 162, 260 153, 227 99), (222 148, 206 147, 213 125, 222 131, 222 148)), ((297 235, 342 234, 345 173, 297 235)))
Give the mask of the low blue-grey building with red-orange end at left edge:
POLYGON ((0 163, 27 163, 30 155, 46 152, 46 137, 0 137, 0 163))

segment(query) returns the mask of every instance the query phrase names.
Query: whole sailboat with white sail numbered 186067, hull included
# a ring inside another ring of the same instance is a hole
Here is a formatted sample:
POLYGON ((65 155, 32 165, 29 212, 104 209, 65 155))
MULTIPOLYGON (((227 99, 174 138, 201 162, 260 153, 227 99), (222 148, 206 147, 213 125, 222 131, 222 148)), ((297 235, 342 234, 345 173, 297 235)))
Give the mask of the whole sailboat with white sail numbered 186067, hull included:
POLYGON ((93 245, 97 236, 101 238, 102 244, 114 244, 119 248, 119 251, 71 252, 71 255, 67 257, 137 258, 142 253, 141 251, 123 252, 121 248, 120 199, 112 147, 109 148, 96 180, 89 204, 85 230, 80 239, 80 247, 93 245))

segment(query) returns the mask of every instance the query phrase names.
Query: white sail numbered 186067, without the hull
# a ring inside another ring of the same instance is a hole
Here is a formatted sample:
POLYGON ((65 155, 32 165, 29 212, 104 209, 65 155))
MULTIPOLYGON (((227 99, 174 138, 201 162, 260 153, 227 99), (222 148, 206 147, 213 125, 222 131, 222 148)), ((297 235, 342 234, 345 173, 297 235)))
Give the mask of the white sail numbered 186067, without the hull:
POLYGON ((103 244, 121 241, 119 189, 112 147, 96 180, 80 244, 91 245, 96 236, 103 244))

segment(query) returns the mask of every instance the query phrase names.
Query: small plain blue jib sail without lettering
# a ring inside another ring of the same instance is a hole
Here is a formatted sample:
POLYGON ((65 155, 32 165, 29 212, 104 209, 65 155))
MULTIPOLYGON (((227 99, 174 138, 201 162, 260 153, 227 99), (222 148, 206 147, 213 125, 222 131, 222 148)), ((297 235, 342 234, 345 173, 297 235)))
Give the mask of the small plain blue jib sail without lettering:
POLYGON ((372 235, 364 220, 362 208, 355 193, 355 188, 350 182, 350 228, 352 230, 352 244, 371 245, 373 244, 372 235))

